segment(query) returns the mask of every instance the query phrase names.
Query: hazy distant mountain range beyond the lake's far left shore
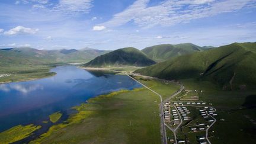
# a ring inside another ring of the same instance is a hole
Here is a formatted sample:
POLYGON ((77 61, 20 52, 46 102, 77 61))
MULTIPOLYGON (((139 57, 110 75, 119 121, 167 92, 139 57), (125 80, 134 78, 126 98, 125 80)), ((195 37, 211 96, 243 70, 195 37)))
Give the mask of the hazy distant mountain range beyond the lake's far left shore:
POLYGON ((108 52, 110 51, 97 49, 38 50, 30 47, 7 48, 0 49, 0 63, 84 63, 108 52))

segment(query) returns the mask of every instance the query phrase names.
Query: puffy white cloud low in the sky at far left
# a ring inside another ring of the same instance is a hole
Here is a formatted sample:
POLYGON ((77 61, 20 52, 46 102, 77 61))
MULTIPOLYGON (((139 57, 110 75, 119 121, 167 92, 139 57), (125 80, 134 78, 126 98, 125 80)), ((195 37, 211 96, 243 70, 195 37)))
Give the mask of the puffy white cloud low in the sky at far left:
POLYGON ((5 31, 4 34, 8 36, 17 35, 17 34, 35 34, 39 31, 39 29, 33 29, 33 28, 27 28, 23 26, 17 26, 15 28, 12 28, 9 31, 5 31))

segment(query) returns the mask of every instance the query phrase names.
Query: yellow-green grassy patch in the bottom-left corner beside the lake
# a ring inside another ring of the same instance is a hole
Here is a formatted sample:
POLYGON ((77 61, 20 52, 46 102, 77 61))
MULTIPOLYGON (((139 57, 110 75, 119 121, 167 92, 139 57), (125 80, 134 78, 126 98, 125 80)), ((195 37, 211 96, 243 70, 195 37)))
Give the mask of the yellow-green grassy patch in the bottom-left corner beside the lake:
POLYGON ((35 130, 40 129, 41 126, 34 126, 33 124, 29 124, 27 126, 15 126, 11 129, 5 130, 0 133, 0 143, 12 143, 18 140, 24 139, 33 133, 35 130))

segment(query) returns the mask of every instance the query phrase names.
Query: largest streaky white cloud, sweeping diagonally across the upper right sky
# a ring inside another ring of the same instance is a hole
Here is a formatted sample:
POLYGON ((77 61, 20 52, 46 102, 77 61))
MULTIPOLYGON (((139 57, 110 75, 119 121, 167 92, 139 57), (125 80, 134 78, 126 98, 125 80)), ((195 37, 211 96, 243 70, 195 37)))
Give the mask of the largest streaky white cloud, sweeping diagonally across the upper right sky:
POLYGON ((155 25, 169 26, 189 23, 191 20, 238 11, 244 7, 253 7, 256 5, 254 1, 167 0, 159 5, 148 7, 149 0, 137 0, 102 25, 116 27, 132 21, 140 27, 149 28, 155 25))

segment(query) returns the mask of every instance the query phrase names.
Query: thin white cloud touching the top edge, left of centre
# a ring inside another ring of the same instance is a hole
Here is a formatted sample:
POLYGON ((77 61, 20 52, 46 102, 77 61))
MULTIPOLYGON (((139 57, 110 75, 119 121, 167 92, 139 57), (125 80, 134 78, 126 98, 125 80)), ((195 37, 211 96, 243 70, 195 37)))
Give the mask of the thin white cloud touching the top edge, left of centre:
POLYGON ((92 7, 93 0, 60 0, 53 10, 63 14, 87 14, 92 7))

